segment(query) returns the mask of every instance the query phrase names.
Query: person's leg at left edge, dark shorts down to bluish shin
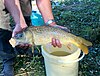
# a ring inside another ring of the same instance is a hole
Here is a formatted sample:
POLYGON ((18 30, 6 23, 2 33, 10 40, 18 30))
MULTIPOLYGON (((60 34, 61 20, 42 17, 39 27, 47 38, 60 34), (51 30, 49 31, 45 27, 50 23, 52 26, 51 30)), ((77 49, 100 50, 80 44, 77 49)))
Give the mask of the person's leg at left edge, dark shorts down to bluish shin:
POLYGON ((3 60, 3 74, 4 76, 14 76, 14 58, 16 54, 9 43, 12 32, 0 29, 0 57, 3 60))

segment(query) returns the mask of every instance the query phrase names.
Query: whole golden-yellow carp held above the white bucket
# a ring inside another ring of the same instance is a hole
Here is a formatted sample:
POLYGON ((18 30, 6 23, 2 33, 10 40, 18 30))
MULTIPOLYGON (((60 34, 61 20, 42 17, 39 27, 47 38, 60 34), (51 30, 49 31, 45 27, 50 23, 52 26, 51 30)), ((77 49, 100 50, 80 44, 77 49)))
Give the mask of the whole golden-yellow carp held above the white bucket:
POLYGON ((13 43, 13 46, 21 43, 44 45, 50 43, 52 38, 59 39, 61 44, 64 45, 68 43, 74 44, 85 54, 88 54, 88 46, 92 46, 92 43, 84 38, 75 36, 60 28, 50 26, 30 26, 22 32, 20 37, 14 37, 10 42, 13 43))

